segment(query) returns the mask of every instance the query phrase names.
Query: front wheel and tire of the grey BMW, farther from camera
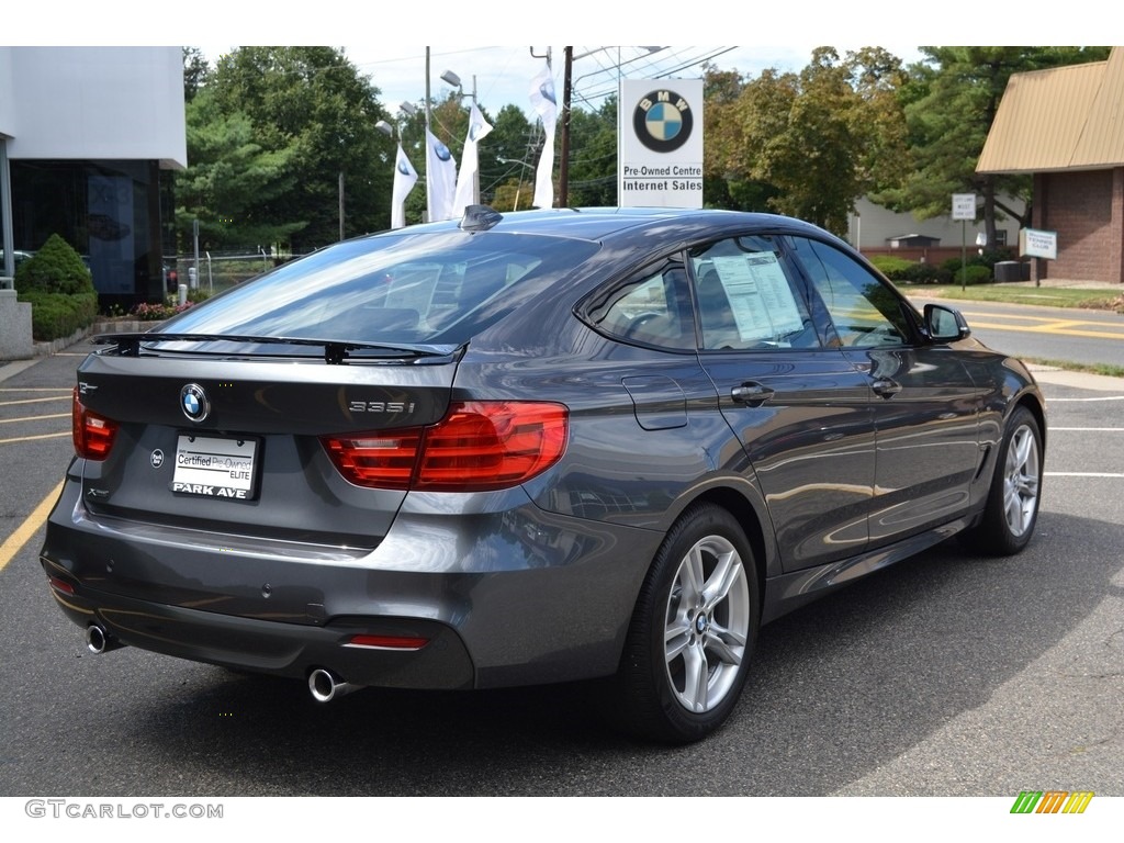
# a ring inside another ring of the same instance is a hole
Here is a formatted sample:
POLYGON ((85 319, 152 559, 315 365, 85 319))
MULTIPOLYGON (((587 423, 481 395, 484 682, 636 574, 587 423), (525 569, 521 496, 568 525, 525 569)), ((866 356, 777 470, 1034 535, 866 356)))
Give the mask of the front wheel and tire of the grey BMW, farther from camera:
POLYGON ((1018 407, 1007 419, 984 519, 964 534, 966 545, 1010 556, 1031 541, 1042 490, 1042 430, 1034 414, 1018 407))

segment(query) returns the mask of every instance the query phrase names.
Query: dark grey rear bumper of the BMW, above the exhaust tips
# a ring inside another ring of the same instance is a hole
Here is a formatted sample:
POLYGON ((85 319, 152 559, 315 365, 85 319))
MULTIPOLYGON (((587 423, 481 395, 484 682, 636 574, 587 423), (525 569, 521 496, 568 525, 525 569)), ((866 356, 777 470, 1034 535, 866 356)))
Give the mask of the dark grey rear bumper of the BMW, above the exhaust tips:
POLYGON ((506 492, 471 515, 418 498, 373 550, 283 552, 272 540, 93 516, 71 475, 40 561, 79 626, 193 661, 433 689, 613 673, 660 535, 544 513, 515 492, 518 506, 506 492), (356 635, 426 643, 355 645, 356 635))

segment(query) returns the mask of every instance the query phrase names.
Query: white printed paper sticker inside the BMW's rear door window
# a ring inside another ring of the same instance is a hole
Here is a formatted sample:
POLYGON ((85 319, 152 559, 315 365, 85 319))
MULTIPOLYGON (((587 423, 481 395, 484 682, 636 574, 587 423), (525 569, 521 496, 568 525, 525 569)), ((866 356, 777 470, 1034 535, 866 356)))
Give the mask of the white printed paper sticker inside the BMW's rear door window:
POLYGON ((772 252, 714 256, 743 341, 772 339, 804 327, 792 288, 772 252))

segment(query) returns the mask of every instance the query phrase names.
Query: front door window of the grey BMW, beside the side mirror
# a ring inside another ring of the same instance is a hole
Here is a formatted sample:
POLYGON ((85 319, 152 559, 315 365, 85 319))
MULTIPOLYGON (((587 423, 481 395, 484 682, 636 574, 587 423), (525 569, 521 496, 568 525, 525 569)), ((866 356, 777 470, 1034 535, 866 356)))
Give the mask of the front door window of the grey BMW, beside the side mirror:
POLYGON ((879 278, 825 243, 805 237, 789 242, 831 316, 835 344, 869 348, 909 342, 901 300, 879 278))

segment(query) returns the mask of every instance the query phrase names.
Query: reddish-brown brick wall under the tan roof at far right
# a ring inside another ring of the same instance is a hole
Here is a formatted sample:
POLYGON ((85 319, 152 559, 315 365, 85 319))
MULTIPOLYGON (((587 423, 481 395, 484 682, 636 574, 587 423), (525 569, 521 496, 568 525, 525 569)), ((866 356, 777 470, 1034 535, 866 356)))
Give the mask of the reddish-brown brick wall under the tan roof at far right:
POLYGON ((1058 233, 1042 278, 1124 282, 1124 170, 1036 174, 1034 227, 1058 233))

